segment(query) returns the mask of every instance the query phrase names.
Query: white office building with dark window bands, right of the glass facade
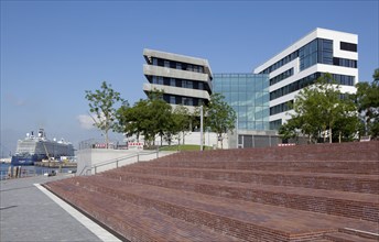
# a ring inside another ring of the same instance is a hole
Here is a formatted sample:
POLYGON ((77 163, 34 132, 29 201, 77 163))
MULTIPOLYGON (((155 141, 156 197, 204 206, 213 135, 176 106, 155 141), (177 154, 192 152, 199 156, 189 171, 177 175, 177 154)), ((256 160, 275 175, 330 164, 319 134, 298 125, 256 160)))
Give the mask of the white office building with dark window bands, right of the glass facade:
POLYGON ((257 67, 270 78, 270 130, 289 118, 299 91, 329 73, 343 94, 354 94, 358 82, 358 36, 316 29, 257 67), (289 112, 289 113, 288 113, 289 112))

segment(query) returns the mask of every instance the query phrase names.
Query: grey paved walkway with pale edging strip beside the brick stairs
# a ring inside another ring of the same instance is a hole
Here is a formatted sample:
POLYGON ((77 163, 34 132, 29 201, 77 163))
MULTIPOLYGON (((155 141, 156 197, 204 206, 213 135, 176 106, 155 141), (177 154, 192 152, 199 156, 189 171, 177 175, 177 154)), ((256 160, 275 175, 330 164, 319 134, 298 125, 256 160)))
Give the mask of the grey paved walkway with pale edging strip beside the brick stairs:
POLYGON ((69 177, 0 182, 0 241, 119 241, 37 184, 69 177))

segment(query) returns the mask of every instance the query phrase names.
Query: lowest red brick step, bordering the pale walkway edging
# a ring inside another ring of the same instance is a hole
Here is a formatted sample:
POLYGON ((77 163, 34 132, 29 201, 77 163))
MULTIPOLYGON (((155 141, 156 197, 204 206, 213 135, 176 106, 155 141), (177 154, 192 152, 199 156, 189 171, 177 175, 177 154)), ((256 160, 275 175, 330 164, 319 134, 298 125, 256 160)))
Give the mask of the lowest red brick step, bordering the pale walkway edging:
POLYGON ((129 241, 241 241, 207 227, 175 219, 153 208, 136 206, 75 184, 54 183, 47 188, 129 241))

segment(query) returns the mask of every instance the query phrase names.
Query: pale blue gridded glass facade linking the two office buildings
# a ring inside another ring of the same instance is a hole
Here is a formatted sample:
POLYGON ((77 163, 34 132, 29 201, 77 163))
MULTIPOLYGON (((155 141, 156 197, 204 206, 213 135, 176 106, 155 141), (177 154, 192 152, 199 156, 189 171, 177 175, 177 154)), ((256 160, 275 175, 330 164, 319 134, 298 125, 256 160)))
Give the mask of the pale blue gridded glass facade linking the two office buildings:
POLYGON ((221 94, 238 117, 238 130, 269 130, 269 75, 215 74, 213 92, 221 94))

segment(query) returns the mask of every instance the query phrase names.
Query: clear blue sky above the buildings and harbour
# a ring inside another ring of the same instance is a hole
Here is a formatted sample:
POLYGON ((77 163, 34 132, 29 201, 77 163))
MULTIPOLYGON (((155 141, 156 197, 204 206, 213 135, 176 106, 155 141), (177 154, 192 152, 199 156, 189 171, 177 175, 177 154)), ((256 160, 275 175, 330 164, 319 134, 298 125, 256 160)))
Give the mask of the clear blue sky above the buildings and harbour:
POLYGON ((378 2, 1 0, 0 156, 40 128, 75 146, 101 139, 85 91, 105 80, 131 105, 144 99, 143 48, 206 58, 213 73, 251 73, 324 28, 358 34, 359 81, 371 81, 378 2))

